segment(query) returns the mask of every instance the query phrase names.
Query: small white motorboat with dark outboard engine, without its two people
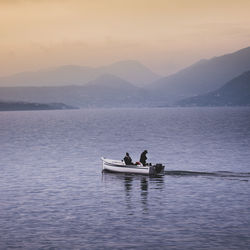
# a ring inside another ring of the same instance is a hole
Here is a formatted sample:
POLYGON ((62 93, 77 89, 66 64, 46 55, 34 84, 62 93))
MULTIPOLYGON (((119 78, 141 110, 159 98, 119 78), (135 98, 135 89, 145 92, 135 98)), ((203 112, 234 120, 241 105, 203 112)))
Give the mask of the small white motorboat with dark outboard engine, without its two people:
POLYGON ((140 162, 137 162, 135 165, 126 165, 124 161, 102 159, 102 170, 109 172, 117 173, 129 173, 129 174, 144 174, 144 175, 163 175, 164 168, 160 163, 155 165, 149 164, 143 166, 140 162))

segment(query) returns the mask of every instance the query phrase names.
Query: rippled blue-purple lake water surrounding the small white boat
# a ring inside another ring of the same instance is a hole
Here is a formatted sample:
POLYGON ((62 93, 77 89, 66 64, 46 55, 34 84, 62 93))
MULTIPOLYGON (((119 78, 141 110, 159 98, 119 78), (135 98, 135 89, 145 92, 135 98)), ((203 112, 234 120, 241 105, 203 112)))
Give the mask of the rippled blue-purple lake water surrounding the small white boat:
POLYGON ((250 108, 1 112, 0 147, 0 249, 249 249, 250 108))

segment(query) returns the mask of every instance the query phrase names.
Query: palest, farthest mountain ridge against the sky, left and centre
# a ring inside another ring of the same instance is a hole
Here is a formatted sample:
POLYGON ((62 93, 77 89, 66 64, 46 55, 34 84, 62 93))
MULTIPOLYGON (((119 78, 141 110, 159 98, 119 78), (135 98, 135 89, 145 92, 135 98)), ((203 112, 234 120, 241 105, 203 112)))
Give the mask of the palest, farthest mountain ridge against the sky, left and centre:
POLYGON ((99 68, 65 65, 36 72, 22 72, 0 77, 0 86, 67 86, 84 85, 103 74, 112 74, 137 86, 148 84, 160 76, 137 61, 121 61, 99 68))

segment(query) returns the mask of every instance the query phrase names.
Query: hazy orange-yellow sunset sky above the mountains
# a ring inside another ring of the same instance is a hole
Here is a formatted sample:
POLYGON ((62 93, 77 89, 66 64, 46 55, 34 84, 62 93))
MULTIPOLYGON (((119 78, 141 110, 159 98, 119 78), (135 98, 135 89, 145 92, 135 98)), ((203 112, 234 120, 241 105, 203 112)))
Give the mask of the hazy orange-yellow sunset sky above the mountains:
POLYGON ((250 46, 249 0, 0 0, 0 76, 138 60, 168 75, 250 46))

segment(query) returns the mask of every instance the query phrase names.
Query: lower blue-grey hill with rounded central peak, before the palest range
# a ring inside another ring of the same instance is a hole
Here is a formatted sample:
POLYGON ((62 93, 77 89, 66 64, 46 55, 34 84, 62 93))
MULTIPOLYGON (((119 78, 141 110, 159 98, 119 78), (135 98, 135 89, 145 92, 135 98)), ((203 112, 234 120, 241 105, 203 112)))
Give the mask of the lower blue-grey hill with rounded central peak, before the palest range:
POLYGON ((132 107, 146 102, 145 90, 113 75, 101 75, 83 86, 1 87, 0 99, 63 102, 77 107, 132 107))

